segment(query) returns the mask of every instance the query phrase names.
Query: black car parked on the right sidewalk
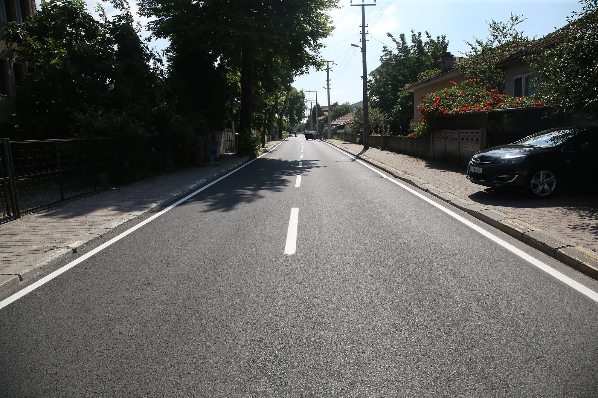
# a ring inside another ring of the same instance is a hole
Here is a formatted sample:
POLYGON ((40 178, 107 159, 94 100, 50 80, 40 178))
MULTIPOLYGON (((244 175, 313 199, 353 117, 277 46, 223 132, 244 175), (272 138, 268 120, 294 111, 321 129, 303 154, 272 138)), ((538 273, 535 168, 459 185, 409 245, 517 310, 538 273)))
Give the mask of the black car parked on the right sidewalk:
POLYGON ((478 152, 469 161, 467 178, 547 198, 565 182, 594 186, 597 170, 598 127, 561 127, 478 152))

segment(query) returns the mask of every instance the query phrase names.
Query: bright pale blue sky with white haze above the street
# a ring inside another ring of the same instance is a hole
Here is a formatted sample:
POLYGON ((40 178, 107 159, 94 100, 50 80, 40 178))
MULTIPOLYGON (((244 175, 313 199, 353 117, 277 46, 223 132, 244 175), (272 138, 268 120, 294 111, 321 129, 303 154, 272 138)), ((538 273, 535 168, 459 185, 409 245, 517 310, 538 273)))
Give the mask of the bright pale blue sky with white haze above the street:
MULTIPOLYGON (((354 0, 354 4, 361 1, 354 0)), ((373 3, 367 0, 366 4, 373 3)), ((115 14, 109 3, 102 3, 108 16, 115 14)), ((137 7, 129 1, 133 13, 137 7)), ((93 11, 96 1, 88 2, 88 10, 93 11)), ((322 51, 325 60, 333 61, 330 72, 330 102, 355 103, 363 99, 361 84, 361 50, 351 43, 361 45, 361 7, 350 7, 349 0, 340 0, 340 8, 331 12, 335 29, 332 35, 322 41, 326 46, 322 51)), ((449 51, 461 56, 468 50, 465 41, 472 38, 486 38, 488 34, 485 21, 492 17, 496 21, 507 21, 511 12, 523 14, 527 18, 518 25, 524 35, 538 38, 565 26, 571 11, 581 11, 582 5, 577 0, 379 0, 374 7, 365 7, 365 24, 369 32, 366 44, 367 71, 370 73, 380 65, 383 45, 392 41, 386 35, 390 32, 395 37, 400 33, 409 36, 411 29, 416 32, 427 30, 432 36, 446 35, 449 51)), ((147 19, 139 19, 142 23, 147 19)), ((167 41, 160 39, 152 42, 156 50, 163 50, 167 41)), ((308 75, 298 76, 294 87, 298 90, 317 90, 320 105, 327 105, 326 72, 312 69, 308 75)), ((306 93, 307 99, 315 102, 315 93, 306 93)))

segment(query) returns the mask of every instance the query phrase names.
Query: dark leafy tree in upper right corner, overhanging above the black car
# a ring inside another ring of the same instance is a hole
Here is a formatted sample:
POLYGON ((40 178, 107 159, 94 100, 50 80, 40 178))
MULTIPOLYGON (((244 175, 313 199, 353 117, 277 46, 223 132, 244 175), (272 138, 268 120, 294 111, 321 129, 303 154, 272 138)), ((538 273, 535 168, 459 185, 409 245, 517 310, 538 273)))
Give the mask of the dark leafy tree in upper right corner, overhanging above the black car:
POLYGON ((539 50, 528 62, 545 102, 598 120, 598 1, 584 3, 565 27, 551 33, 554 47, 539 50))

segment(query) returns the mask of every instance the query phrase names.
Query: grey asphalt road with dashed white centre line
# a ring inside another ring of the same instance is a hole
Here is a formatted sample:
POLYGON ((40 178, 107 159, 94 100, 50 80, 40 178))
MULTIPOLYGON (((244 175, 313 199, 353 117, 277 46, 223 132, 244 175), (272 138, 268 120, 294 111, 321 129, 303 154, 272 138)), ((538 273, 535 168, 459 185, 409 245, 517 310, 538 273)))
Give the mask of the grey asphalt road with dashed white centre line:
POLYGON ((0 317, 2 397, 598 396, 596 301, 301 136, 0 317))

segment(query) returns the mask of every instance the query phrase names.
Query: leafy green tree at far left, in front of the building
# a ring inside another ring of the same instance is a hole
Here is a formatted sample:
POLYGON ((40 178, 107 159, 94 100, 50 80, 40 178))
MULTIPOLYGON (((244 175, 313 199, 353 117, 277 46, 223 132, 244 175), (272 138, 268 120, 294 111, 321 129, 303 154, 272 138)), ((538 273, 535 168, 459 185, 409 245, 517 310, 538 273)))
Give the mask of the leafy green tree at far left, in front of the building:
POLYGON ((108 29, 81 0, 43 1, 38 12, 4 29, 19 60, 35 65, 19 89, 17 120, 29 138, 64 134, 73 111, 108 106, 115 51, 108 29))

